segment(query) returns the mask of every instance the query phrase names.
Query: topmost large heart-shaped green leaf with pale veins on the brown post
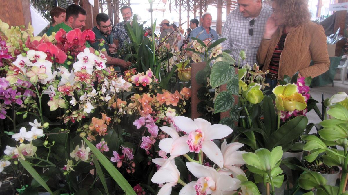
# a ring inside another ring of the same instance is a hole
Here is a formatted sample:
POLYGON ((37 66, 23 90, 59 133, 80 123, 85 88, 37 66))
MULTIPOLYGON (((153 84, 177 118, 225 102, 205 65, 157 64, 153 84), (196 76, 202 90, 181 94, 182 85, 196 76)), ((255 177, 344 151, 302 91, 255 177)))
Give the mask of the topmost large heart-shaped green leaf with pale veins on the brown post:
POLYGON ((228 62, 216 62, 214 63, 210 74, 210 84, 213 88, 226 84, 234 73, 234 68, 231 68, 228 62))

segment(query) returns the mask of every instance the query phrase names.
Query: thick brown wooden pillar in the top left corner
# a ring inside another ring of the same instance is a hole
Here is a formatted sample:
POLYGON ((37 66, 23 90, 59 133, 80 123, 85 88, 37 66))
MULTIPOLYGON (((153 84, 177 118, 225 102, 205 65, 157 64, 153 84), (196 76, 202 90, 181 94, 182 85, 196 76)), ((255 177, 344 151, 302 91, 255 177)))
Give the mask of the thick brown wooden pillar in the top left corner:
POLYGON ((29 0, 1 0, 0 19, 9 26, 25 25, 28 28, 29 22, 32 24, 29 8, 29 0))

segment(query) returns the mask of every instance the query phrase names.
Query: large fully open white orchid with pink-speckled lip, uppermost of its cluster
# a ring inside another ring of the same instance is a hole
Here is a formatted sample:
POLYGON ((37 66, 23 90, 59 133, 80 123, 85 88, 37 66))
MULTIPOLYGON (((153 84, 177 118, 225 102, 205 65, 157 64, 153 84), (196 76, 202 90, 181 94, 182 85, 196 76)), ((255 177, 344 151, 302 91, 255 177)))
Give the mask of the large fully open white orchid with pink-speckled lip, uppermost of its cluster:
MULTIPOLYGON (((227 125, 214 124, 211 125, 210 122, 204 119, 195 119, 194 121, 188 117, 177 116, 173 118, 174 123, 183 132, 189 134, 182 136, 175 141, 173 141, 173 146, 182 144, 186 142, 189 146, 189 150, 183 151, 183 147, 177 147, 177 149, 171 149, 171 155, 181 155, 183 152, 195 152, 198 153, 202 150, 207 157, 216 163, 220 168, 223 167, 223 156, 217 147, 217 145, 212 141, 213 139, 222 139, 230 135, 233 130, 227 125), (181 150, 176 152, 175 150, 181 150)), ((185 154, 183 153, 183 154, 185 154)))

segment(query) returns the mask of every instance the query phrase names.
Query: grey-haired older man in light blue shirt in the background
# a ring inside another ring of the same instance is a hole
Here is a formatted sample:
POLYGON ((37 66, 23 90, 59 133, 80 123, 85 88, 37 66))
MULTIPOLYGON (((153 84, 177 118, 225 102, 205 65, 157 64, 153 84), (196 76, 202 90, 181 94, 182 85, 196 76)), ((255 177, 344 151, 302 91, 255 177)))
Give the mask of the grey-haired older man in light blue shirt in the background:
POLYGON ((212 15, 205 12, 200 21, 201 25, 191 31, 190 37, 197 37, 203 42, 209 42, 211 40, 216 41, 219 36, 216 31, 210 27, 212 24, 212 15))

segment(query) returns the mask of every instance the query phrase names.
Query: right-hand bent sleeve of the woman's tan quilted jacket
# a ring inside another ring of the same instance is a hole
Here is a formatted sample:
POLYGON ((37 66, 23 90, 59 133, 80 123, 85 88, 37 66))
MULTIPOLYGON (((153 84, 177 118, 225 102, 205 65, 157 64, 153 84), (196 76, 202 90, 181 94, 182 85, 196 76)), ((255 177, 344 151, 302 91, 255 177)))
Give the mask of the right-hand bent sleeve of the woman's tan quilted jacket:
POLYGON ((309 45, 309 50, 312 55, 312 60, 314 61, 313 66, 303 68, 299 70, 302 77, 312 78, 325 73, 330 68, 330 58, 327 53, 326 36, 324 33, 324 28, 321 25, 317 25, 315 30, 311 35, 311 42, 309 45))

